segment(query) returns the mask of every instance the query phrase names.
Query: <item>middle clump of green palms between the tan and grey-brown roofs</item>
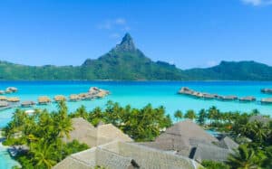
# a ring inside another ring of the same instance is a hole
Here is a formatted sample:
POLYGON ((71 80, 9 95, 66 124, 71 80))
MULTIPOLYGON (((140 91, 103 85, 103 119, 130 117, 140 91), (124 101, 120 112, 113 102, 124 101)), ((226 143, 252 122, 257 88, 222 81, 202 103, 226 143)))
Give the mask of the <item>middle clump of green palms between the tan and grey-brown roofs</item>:
MULTIPOLYGON (((70 117, 81 117, 81 108, 77 109, 70 117)), ((111 123, 119 127, 125 134, 135 141, 151 141, 160 135, 160 130, 170 127, 170 116, 165 115, 163 107, 152 108, 151 104, 144 108, 121 107, 118 103, 109 101, 106 108, 94 108, 88 114, 83 113, 85 119, 93 126, 100 122, 111 123)))

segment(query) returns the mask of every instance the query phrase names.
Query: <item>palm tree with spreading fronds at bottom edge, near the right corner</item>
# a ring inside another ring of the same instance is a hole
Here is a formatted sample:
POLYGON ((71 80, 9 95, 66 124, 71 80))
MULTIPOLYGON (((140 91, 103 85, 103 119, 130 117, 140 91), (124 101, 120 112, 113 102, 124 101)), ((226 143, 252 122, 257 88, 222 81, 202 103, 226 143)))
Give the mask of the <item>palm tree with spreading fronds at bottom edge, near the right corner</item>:
POLYGON ((234 154, 228 156, 227 164, 233 169, 257 169, 260 161, 253 149, 247 145, 241 145, 234 154))

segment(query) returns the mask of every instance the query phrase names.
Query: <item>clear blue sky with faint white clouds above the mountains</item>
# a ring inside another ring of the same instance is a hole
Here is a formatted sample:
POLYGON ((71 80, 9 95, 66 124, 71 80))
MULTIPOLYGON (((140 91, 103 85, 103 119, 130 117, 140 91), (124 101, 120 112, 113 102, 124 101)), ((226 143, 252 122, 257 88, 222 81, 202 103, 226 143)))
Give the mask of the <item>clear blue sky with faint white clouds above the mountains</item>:
POLYGON ((180 69, 220 61, 272 65, 272 0, 1 0, 0 60, 81 65, 124 33, 180 69))

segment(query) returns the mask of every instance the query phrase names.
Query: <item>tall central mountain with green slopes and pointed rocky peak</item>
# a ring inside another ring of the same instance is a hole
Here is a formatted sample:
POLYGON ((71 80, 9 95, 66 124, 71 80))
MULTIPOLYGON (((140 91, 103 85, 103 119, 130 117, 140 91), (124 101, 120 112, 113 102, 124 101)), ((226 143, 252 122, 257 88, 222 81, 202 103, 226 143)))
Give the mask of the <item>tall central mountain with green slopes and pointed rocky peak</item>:
POLYGON ((82 66, 85 79, 102 80, 185 80, 181 70, 162 61, 151 61, 136 49, 131 35, 98 60, 87 60, 82 66))

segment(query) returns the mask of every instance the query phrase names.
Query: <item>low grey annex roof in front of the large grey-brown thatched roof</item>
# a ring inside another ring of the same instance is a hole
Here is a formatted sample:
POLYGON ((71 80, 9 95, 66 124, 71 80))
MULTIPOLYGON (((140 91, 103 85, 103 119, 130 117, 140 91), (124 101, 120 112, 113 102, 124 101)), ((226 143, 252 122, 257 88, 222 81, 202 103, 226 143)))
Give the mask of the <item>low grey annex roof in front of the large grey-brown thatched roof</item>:
POLYGON ((219 146, 199 144, 191 158, 201 163, 203 160, 224 162, 228 159, 231 150, 219 146))

